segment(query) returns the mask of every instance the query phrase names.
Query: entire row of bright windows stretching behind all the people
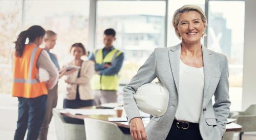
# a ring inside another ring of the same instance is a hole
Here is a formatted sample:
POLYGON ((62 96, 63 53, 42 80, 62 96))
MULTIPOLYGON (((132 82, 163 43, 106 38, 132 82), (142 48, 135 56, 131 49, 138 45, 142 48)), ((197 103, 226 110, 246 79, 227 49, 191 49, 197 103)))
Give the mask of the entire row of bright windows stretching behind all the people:
MULTIPOLYGON (((90 0, 1 0, 0 77, 5 78, 0 78, 0 93, 11 92, 10 56, 14 48, 13 41, 20 31, 28 29, 31 25, 41 25, 46 30, 53 30, 58 34, 57 44, 52 52, 57 54, 60 65, 71 60, 69 48, 73 43, 81 42, 88 49, 103 48, 103 31, 108 28, 115 29, 117 40, 114 46, 125 53, 124 65, 120 72, 121 83, 127 83, 154 48, 169 47, 180 42, 172 26, 173 14, 183 5, 195 4, 208 12, 206 15, 208 19, 207 37, 202 40, 202 43, 207 43, 206 47, 209 49, 227 55, 230 72, 230 99, 232 102, 241 103, 244 1, 169 0, 167 29, 165 29, 166 1, 98 0, 91 2, 97 5, 96 13, 93 9, 95 7, 89 10, 90 0), (90 19, 93 19, 90 21, 90 26, 95 25, 94 19, 96 20, 96 30, 90 29, 90 33, 96 35, 95 40, 94 36, 91 40, 88 38, 89 11, 92 12, 90 19), (89 41, 95 41, 95 46, 89 48, 89 41), (165 41, 167 46, 165 46, 165 41)), ((241 105, 231 107, 239 110, 241 105)))

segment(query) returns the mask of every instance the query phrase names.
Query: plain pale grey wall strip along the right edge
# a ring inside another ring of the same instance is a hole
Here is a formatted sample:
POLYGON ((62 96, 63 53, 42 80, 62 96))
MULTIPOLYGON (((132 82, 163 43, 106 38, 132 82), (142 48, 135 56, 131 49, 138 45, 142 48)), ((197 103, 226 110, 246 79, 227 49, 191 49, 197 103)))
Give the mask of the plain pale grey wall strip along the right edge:
POLYGON ((245 38, 242 109, 256 104, 256 1, 245 0, 245 38))

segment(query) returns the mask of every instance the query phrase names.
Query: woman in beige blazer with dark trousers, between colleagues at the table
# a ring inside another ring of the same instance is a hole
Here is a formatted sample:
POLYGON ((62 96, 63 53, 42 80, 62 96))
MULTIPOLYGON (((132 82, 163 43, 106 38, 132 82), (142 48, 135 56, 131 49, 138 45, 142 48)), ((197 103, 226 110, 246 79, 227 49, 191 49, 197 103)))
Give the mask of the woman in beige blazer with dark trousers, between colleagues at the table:
POLYGON ((74 60, 68 65, 79 66, 80 69, 71 70, 71 74, 65 80, 68 85, 65 99, 63 100, 63 108, 93 106, 94 100, 90 80, 94 73, 94 62, 81 59, 83 55, 86 55, 86 48, 82 43, 74 43, 70 48, 70 53, 73 55, 74 60))

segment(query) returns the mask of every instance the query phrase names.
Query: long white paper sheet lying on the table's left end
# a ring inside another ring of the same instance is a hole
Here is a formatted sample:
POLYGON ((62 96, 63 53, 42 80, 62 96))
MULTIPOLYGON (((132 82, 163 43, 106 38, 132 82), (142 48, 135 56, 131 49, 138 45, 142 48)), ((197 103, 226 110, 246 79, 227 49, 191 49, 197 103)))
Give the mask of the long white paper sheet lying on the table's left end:
POLYGON ((114 109, 64 109, 73 115, 115 115, 114 109))

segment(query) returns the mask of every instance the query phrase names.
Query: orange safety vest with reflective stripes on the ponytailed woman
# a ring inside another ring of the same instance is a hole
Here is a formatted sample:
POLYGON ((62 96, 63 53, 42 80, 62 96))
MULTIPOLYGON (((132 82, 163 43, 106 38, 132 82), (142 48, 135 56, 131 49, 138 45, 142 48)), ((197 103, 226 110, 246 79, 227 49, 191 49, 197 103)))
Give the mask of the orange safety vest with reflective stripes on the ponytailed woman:
POLYGON ((14 56, 12 96, 35 98, 48 94, 46 83, 36 79, 36 63, 41 51, 42 48, 35 44, 28 44, 25 45, 22 57, 14 56))

